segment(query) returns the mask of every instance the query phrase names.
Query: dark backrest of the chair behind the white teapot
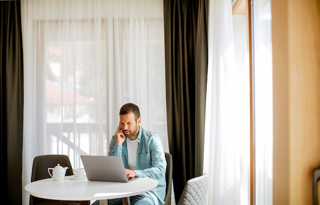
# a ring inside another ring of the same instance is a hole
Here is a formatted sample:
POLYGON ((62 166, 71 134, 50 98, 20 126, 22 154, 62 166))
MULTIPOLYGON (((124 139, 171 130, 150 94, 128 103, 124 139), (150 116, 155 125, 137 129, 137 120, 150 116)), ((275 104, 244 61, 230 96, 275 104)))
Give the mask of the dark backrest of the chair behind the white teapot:
MULTIPOLYGON (((34 157, 33 165, 32 165, 32 174, 31 174, 31 182, 37 181, 40 179, 51 178, 48 173, 48 168, 54 168, 55 166, 60 164, 62 167, 68 167, 65 172, 66 176, 73 175, 72 166, 70 163, 70 159, 67 155, 63 154, 49 154, 49 155, 40 155, 34 157)), ((44 201, 52 201, 49 199, 42 199, 38 197, 34 197, 30 195, 30 205, 44 202, 44 201)))

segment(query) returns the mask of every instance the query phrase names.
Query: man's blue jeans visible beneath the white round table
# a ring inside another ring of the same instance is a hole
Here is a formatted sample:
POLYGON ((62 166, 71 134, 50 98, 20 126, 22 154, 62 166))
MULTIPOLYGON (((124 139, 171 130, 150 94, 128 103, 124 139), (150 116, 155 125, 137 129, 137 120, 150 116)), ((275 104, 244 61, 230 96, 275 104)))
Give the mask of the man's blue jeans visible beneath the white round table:
MULTIPOLYGON (((122 198, 108 199, 109 205, 122 205, 122 198)), ((131 205, 154 205, 153 198, 150 194, 144 193, 136 196, 130 196, 131 205)), ((99 200, 96 200, 92 205, 99 205, 99 200)))

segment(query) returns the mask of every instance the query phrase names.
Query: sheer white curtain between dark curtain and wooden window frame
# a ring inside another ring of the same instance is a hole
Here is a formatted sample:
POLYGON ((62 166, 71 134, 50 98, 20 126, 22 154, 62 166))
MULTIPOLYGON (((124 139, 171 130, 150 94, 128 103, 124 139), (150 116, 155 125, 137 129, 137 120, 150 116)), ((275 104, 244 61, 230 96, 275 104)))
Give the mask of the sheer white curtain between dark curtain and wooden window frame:
POLYGON ((246 29, 245 17, 233 19, 231 1, 210 1, 203 163, 203 171, 210 176, 208 204, 249 204, 250 98, 246 29))

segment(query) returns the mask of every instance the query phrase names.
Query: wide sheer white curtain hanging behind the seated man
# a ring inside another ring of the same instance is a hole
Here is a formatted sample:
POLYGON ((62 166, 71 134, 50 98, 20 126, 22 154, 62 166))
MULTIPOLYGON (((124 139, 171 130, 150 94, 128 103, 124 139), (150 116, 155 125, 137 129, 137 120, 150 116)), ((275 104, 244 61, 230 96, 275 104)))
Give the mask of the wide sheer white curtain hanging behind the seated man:
POLYGON ((23 187, 36 155, 107 155, 127 102, 169 151, 162 1, 21 0, 21 19, 23 187))

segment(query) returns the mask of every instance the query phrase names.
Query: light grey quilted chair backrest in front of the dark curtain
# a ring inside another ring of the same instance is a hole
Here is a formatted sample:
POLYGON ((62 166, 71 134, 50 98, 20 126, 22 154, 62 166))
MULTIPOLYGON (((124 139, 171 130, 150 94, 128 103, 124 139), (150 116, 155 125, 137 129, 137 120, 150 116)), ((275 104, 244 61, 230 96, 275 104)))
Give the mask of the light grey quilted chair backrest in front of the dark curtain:
POLYGON ((203 174, 187 181, 184 191, 177 205, 204 205, 207 204, 209 189, 209 175, 203 174))

